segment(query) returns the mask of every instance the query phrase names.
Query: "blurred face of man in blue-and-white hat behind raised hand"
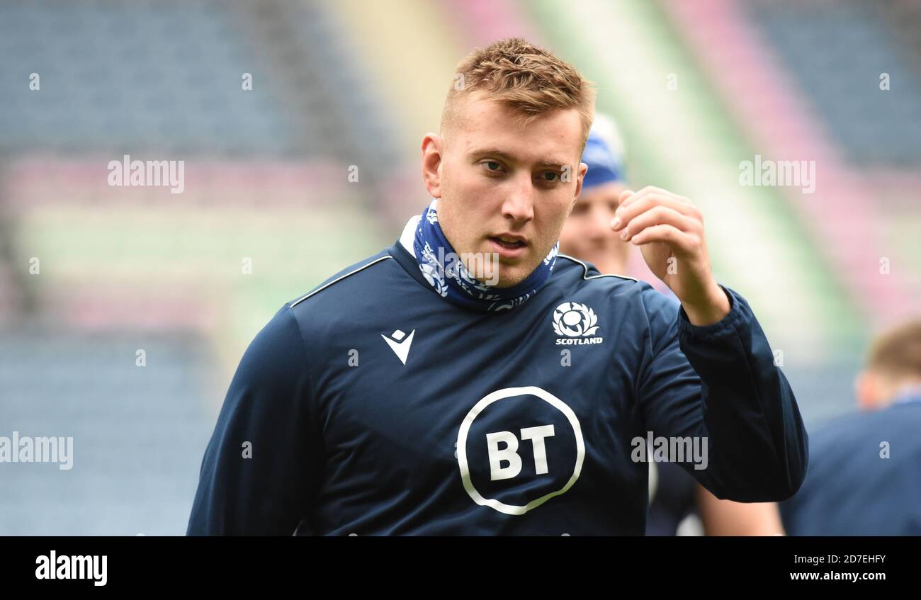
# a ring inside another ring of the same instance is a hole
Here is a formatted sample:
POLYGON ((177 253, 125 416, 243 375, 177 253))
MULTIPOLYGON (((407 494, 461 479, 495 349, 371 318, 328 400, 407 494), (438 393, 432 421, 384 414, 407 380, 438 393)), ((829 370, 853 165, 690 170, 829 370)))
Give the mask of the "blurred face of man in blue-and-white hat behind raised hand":
POLYGON ((582 190, 560 234, 560 251, 589 261, 602 273, 625 272, 631 247, 611 229, 624 190, 615 181, 582 190))

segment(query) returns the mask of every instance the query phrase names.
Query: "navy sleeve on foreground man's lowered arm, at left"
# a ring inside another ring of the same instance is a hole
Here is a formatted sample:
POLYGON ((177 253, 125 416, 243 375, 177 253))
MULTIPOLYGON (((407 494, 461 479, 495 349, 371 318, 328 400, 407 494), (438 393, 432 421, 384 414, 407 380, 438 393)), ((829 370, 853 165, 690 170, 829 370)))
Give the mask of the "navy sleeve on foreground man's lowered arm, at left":
POLYGON ((243 354, 204 452, 187 535, 282 535, 309 515, 321 469, 307 355, 284 306, 243 354))

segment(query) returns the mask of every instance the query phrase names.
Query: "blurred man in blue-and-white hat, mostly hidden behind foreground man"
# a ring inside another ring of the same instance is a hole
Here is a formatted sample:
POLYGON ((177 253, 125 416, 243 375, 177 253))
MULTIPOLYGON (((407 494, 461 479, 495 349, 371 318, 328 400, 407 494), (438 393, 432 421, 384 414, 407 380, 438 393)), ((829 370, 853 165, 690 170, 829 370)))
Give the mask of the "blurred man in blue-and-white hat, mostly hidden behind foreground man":
MULTIPOLYGON (((627 183, 624 142, 606 115, 595 115, 582 163, 589 170, 560 234, 560 251, 590 262, 602 273, 649 279, 651 273, 639 252, 610 226, 627 183)), ((663 291, 668 293, 668 288, 663 291)), ((719 500, 677 463, 649 461, 649 468, 647 536, 694 535, 701 527, 710 536, 784 535, 775 502, 719 500)))

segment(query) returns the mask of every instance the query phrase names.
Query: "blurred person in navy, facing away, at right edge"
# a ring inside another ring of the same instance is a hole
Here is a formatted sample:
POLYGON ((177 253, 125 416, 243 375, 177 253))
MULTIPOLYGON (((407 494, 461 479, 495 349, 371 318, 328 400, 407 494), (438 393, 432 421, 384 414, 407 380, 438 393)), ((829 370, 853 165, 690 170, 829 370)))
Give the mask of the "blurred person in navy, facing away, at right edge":
POLYGON ((791 536, 921 536, 921 320, 881 335, 857 375, 860 411, 810 440, 809 475, 780 505, 791 536))

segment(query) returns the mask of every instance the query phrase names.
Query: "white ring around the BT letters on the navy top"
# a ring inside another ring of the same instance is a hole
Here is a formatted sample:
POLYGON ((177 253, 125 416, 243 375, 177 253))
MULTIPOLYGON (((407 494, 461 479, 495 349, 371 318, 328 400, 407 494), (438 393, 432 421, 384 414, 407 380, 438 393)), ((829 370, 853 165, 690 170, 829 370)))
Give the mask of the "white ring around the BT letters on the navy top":
POLYGON ((576 483, 579 474, 582 472, 582 463, 585 461, 585 442, 582 439, 582 427, 579 425, 576 413, 573 412, 573 410, 570 409, 563 400, 556 398, 553 394, 546 391, 545 389, 542 389, 541 387, 506 387, 496 390, 495 392, 482 398, 473 406, 470 412, 467 413, 467 416, 464 417, 463 422, 461 422, 461 431, 458 432, 457 456, 458 466, 461 467, 461 479, 463 480, 464 490, 467 490, 467 493, 473 499, 473 502, 476 502, 481 506, 489 506, 500 513, 524 514, 533 508, 537 508, 543 502, 547 502, 554 496, 559 496, 560 494, 565 493, 567 490, 573 487, 573 484, 576 483), (576 438, 576 463, 573 466, 572 476, 559 490, 554 490, 550 493, 546 493, 540 498, 532 500, 524 505, 507 504, 495 499, 484 498, 484 496, 473 486, 470 475, 470 467, 467 464, 467 435, 470 433, 470 428, 473 421, 475 421, 476 418, 494 402, 505 398, 515 398, 518 396, 533 396, 540 398, 550 406, 554 407, 554 409, 562 412, 565 415, 566 420, 569 421, 569 424, 572 426, 573 434, 576 438))

